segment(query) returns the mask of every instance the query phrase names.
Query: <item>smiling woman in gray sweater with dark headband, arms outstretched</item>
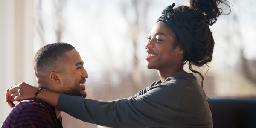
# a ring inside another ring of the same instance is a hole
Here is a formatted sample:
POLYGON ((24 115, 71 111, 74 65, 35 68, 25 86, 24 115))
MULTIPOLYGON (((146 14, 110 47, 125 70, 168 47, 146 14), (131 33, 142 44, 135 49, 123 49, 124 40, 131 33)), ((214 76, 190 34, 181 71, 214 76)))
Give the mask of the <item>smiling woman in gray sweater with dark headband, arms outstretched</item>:
MULTIPOLYGON (((222 0, 190 0, 190 6, 168 6, 148 35, 146 66, 160 80, 128 99, 111 102, 84 99, 41 90, 35 97, 84 122, 109 127, 212 128, 212 115, 203 87, 204 77, 192 65, 212 60, 213 25, 222 0), (189 69, 202 77, 201 87, 189 69)), ((229 6, 228 6, 229 7, 229 6)), ((230 7, 229 7, 230 9, 230 7)), ((33 98, 37 88, 21 83, 10 88, 7 101, 33 98), (26 94, 26 95, 24 95, 26 94), (12 97, 10 97, 12 96, 12 97)))

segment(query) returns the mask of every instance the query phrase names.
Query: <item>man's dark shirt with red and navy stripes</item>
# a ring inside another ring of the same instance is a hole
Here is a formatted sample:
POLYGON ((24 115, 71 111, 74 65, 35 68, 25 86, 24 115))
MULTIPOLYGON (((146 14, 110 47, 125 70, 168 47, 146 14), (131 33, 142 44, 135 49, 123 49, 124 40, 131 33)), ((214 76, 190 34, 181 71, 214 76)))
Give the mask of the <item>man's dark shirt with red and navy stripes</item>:
POLYGON ((46 102, 27 99, 12 109, 1 128, 62 128, 62 118, 46 102))

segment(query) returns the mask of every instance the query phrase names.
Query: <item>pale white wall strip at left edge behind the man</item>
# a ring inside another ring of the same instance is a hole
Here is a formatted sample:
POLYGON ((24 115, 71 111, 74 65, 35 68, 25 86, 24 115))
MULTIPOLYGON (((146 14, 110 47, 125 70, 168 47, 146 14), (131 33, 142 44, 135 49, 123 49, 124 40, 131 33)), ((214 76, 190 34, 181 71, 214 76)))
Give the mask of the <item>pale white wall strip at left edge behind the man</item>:
POLYGON ((33 1, 0 0, 0 125, 12 110, 5 103, 6 89, 36 83, 33 56, 33 1))

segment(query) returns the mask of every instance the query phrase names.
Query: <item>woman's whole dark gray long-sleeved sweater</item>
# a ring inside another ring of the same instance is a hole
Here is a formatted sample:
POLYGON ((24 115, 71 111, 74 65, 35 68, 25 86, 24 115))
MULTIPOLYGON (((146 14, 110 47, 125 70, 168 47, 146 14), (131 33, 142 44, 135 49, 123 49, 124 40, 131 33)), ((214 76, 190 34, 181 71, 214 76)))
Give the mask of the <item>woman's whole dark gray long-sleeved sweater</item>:
POLYGON ((61 94, 58 111, 84 122, 114 128, 212 128, 212 114, 192 73, 154 81, 134 96, 97 101, 61 94))

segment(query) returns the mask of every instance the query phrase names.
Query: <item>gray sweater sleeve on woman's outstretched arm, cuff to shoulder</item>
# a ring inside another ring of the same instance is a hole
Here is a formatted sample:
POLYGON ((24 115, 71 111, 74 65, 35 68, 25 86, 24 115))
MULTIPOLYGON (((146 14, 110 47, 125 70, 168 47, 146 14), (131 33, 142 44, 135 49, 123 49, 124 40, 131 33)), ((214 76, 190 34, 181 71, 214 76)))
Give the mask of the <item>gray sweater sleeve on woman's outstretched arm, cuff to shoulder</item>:
POLYGON ((183 91, 174 84, 147 89, 128 99, 110 102, 61 94, 57 109, 84 122, 108 127, 174 126, 183 91))

